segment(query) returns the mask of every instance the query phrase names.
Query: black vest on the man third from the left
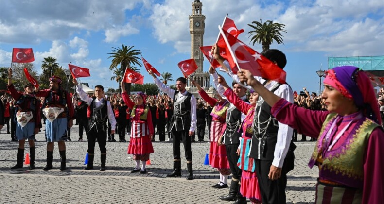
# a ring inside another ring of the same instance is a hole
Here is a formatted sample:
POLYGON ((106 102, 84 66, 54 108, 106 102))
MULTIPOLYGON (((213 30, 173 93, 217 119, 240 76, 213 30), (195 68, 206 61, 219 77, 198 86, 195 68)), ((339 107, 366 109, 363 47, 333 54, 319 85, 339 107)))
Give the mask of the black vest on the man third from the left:
POLYGON ((90 104, 90 120, 89 120, 89 130, 92 128, 95 132, 105 132, 107 129, 106 121, 108 118, 108 105, 107 101, 103 99, 102 105, 96 107, 95 99, 92 100, 90 104))

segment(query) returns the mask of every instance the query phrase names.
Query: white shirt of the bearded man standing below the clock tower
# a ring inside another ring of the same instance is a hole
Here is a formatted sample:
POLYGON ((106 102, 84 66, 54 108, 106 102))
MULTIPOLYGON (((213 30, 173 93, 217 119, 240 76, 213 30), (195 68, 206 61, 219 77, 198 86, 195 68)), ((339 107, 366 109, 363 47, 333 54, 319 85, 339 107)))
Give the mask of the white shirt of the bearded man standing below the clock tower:
MULTIPOLYGON (((168 94, 171 97, 174 97, 174 95, 175 95, 174 89, 170 88, 169 86, 164 85, 159 79, 157 79, 157 77, 154 78, 154 82, 160 88, 160 90, 162 92, 168 94)), ((177 101, 180 101, 183 98, 186 98, 187 93, 188 93, 188 91, 185 91, 184 93, 180 92, 180 94, 178 94, 177 101)), ((196 130, 197 118, 196 118, 196 98, 193 96, 193 94, 191 96, 190 102, 191 102, 191 127, 190 127, 189 131, 194 132, 196 130)))

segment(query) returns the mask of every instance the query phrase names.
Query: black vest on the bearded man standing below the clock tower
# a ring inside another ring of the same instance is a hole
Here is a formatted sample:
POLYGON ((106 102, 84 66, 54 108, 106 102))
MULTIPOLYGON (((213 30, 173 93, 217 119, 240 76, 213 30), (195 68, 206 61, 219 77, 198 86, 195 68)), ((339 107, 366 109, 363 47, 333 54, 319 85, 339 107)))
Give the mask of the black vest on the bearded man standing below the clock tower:
POLYGON ((177 131, 189 130, 191 127, 191 97, 192 94, 187 92, 187 97, 183 101, 177 101, 177 94, 174 94, 174 115, 171 118, 171 129, 176 128, 177 131))

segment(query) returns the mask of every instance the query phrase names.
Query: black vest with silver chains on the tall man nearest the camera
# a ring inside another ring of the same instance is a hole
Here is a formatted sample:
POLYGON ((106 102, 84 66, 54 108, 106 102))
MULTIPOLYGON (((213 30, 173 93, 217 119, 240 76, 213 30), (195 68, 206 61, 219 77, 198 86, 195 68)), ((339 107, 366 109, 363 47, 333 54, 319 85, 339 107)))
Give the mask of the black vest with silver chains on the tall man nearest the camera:
MULTIPOLYGON (((281 84, 278 83, 274 86, 271 92, 275 92, 280 85, 281 84)), ((263 99, 259 98, 259 101, 260 100, 263 99)), ((262 101, 262 105, 256 107, 253 121, 253 137, 249 157, 271 161, 274 159, 279 131, 278 121, 271 115, 271 106, 262 101)))

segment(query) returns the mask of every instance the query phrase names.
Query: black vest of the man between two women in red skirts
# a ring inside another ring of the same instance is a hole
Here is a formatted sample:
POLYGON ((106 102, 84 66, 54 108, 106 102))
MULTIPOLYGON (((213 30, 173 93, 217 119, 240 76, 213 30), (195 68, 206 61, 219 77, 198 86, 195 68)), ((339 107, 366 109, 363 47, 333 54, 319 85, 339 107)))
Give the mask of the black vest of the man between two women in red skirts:
MULTIPOLYGON (((249 102, 247 99, 243 100, 244 102, 249 102)), ((239 138, 241 137, 241 132, 239 132, 240 125, 242 123, 241 120, 242 112, 233 106, 232 108, 227 109, 226 116, 226 132, 224 134, 223 144, 240 144, 239 138)))

